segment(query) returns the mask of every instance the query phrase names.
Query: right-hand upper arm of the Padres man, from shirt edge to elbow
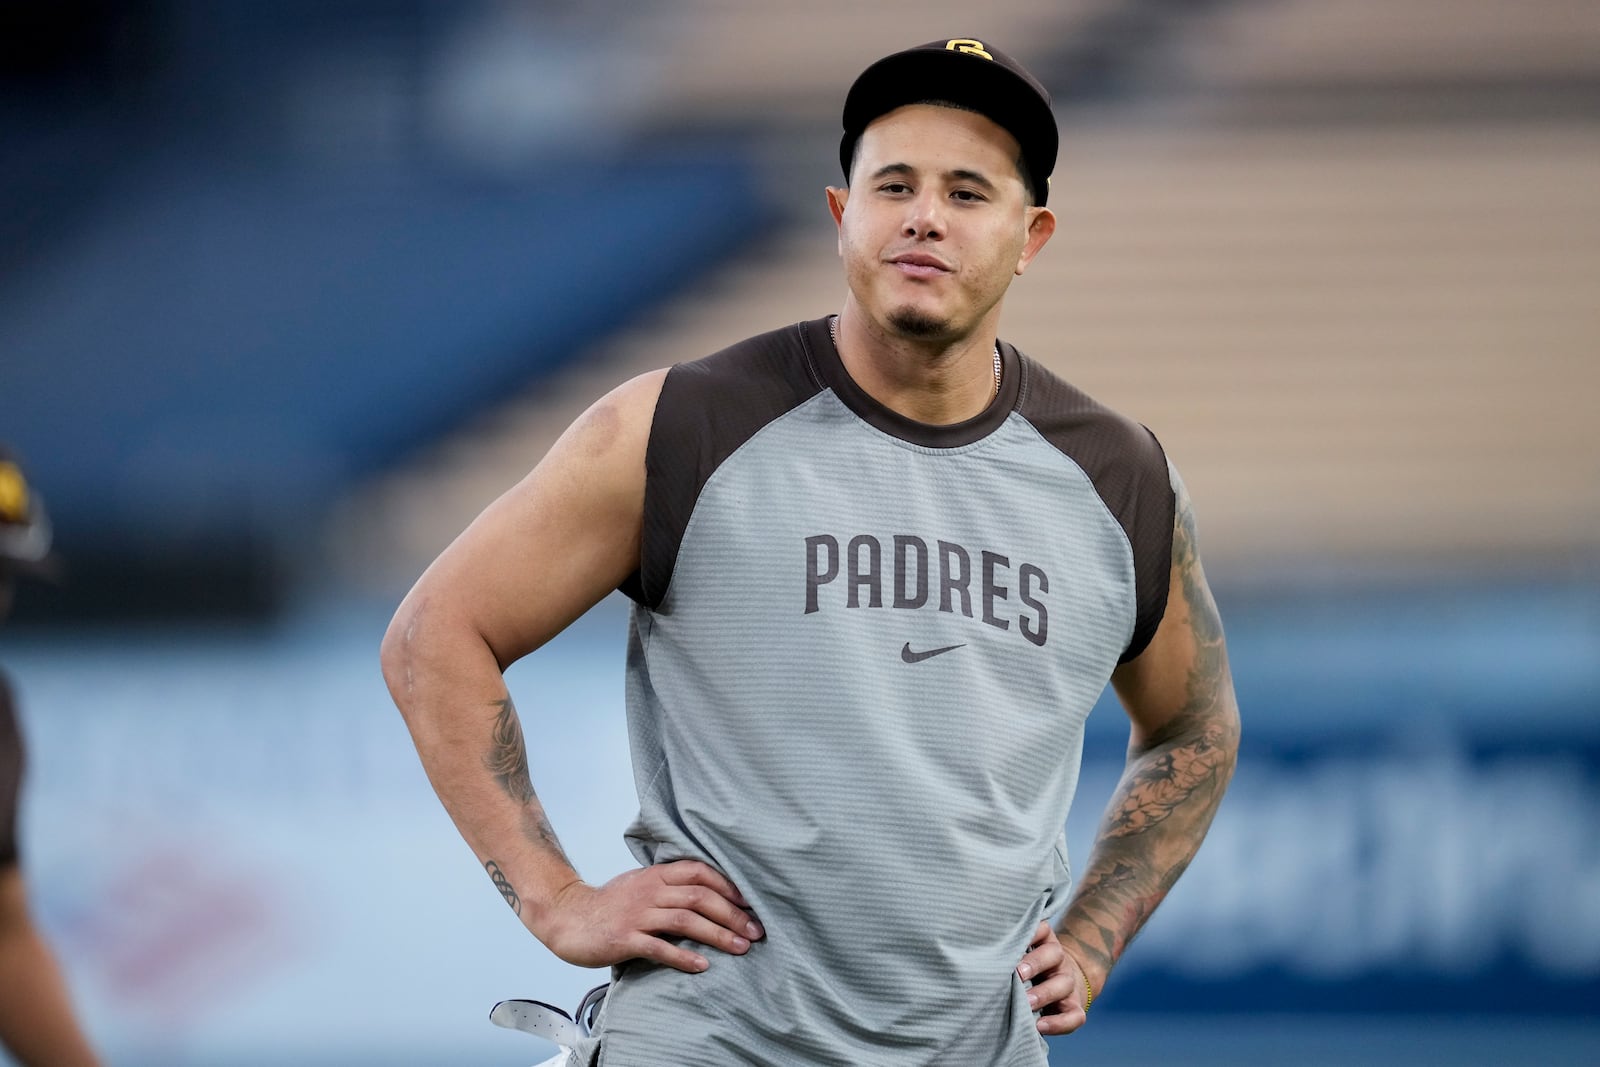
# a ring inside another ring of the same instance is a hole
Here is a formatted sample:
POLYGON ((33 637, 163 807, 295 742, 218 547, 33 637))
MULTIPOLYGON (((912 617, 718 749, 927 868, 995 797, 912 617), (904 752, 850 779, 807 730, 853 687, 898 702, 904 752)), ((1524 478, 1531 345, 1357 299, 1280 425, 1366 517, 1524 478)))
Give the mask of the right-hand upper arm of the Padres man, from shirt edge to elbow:
POLYGON ((1176 470, 1171 480, 1176 509, 1166 613, 1150 645, 1112 675, 1133 720, 1134 750, 1208 725, 1237 734, 1222 619, 1200 566, 1194 507, 1176 470))

